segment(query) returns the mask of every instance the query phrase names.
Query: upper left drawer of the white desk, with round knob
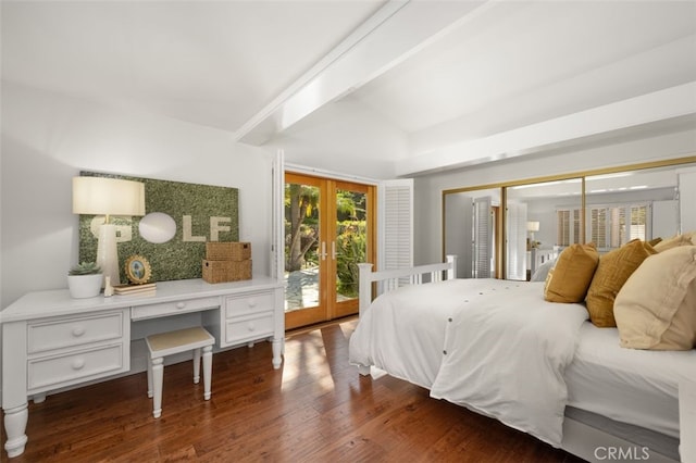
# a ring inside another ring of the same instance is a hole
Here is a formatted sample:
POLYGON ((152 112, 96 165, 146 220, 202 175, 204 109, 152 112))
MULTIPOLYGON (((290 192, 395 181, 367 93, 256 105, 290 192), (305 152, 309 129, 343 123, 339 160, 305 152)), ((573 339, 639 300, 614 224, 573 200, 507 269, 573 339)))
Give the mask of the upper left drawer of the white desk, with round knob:
POLYGON ((29 323, 27 352, 33 354, 109 339, 122 339, 124 324, 129 323, 126 318, 125 313, 119 311, 29 323))

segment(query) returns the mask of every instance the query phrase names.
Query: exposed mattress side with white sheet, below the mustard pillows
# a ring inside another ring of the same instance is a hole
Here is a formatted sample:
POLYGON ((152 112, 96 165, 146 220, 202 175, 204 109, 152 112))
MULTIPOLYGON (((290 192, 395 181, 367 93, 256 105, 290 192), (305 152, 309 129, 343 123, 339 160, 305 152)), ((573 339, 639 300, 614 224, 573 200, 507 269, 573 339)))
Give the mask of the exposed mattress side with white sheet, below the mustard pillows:
POLYGON ((586 322, 564 377, 569 406, 679 438, 678 384, 696 379, 696 350, 621 348, 617 328, 586 322))

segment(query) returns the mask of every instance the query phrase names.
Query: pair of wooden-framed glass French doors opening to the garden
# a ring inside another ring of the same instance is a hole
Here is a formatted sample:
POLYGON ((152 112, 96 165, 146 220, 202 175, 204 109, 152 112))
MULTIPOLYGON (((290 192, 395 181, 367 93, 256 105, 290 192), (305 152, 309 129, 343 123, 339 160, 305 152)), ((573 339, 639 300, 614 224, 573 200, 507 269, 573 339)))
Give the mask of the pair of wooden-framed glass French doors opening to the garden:
POLYGON ((285 174, 286 329, 358 313, 358 263, 374 262, 374 186, 285 174))

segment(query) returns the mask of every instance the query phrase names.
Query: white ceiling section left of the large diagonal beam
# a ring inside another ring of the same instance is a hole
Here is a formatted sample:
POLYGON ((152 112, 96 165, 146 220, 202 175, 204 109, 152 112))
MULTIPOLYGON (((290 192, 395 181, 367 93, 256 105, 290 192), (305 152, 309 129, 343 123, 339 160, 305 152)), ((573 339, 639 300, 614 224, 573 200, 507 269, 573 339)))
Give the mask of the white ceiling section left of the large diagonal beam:
POLYGON ((3 1, 2 78, 235 132, 377 7, 3 1))

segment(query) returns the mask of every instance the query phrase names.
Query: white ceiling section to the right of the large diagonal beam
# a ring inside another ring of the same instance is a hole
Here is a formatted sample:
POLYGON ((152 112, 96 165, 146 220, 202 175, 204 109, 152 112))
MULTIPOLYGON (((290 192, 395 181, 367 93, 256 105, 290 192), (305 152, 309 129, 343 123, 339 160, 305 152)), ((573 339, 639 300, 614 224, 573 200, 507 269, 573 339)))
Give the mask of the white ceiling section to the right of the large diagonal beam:
POLYGON ((680 51, 696 52, 695 14, 693 2, 498 2, 356 98, 410 133, 460 120, 487 136, 689 82, 696 53, 680 51))

